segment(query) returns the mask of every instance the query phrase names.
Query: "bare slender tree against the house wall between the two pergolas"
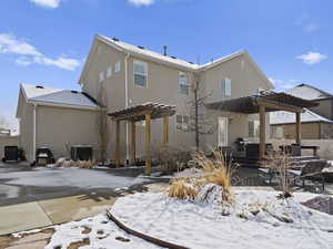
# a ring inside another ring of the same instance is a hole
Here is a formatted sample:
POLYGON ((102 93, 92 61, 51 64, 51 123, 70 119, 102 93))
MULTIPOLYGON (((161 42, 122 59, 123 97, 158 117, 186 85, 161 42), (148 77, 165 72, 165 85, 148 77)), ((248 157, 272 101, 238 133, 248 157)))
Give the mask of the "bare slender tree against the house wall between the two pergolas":
POLYGON ((213 121, 206 112, 205 100, 211 95, 202 87, 202 79, 199 75, 192 77, 193 98, 189 102, 190 121, 188 132, 195 134, 195 148, 199 151, 201 135, 213 133, 213 121))

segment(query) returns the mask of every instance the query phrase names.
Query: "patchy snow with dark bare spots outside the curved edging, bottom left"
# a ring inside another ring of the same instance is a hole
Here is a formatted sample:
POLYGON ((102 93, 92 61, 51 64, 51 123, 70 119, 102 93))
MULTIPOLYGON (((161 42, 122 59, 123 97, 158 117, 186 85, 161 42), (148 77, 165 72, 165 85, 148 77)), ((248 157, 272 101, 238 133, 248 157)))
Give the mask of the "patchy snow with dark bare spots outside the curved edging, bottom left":
POLYGON ((53 227, 49 245, 44 249, 67 249, 72 242, 89 239, 90 245, 80 249, 150 249, 159 248, 140 238, 130 236, 109 221, 105 215, 98 215, 80 221, 53 227))

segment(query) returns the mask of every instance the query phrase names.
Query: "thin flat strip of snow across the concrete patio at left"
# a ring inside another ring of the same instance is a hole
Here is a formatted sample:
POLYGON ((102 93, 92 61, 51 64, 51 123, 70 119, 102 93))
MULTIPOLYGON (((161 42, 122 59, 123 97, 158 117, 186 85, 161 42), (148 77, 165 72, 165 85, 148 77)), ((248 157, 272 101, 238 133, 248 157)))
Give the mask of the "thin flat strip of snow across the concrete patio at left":
POLYGON ((78 188, 131 187, 149 181, 144 178, 117 176, 112 173, 82 168, 36 168, 32 172, 13 172, 0 176, 8 185, 40 187, 71 186, 78 188), (8 179, 8 180, 7 180, 8 179))

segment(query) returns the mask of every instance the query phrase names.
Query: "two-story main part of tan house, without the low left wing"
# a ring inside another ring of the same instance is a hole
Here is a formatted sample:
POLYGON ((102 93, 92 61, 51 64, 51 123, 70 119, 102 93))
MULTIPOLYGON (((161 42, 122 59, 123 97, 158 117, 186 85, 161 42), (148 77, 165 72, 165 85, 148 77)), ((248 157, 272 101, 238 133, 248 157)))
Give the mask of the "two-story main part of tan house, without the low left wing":
MULTIPOLYGON (((248 96, 273 87, 246 51, 200 65, 103 35, 95 37, 79 83, 82 91, 94 98, 103 91, 109 112, 145 102, 175 105, 176 115, 170 122, 170 143, 189 148, 195 145, 194 134, 186 132, 186 126, 190 120, 189 102, 193 100, 192 87, 198 79, 200 91, 208 96, 206 103, 248 96)), ((251 125, 256 115, 208 112, 214 128, 211 134, 202 135, 202 148, 233 145, 238 137, 256 134, 251 131, 256 128, 251 125)), ((152 124, 154 145, 162 139, 160 122, 157 120, 157 124, 152 124)), ((143 126, 144 123, 137 127, 139 155, 143 153, 143 126)), ((114 127, 111 129, 111 137, 114 137, 114 127)), ((129 154, 129 133, 128 125, 123 125, 121 152, 124 157, 129 154)), ((114 138, 111 139, 110 152, 113 149, 114 138)))

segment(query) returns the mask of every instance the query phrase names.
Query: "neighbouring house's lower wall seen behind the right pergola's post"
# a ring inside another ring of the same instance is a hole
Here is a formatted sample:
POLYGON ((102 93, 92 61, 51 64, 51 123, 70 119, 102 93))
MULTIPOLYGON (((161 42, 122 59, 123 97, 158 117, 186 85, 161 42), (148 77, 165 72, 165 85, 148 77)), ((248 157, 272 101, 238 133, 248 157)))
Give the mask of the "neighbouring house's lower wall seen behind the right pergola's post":
MULTIPOLYGON (((295 124, 272 125, 274 127, 282 126, 285 139, 295 139, 295 124)), ((303 123, 301 124, 301 137, 303 139, 320 139, 321 138, 320 123, 303 123)))

